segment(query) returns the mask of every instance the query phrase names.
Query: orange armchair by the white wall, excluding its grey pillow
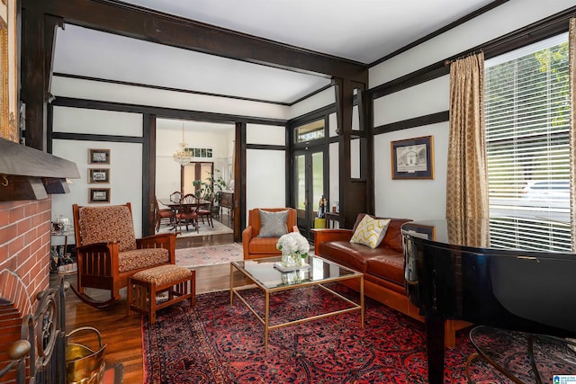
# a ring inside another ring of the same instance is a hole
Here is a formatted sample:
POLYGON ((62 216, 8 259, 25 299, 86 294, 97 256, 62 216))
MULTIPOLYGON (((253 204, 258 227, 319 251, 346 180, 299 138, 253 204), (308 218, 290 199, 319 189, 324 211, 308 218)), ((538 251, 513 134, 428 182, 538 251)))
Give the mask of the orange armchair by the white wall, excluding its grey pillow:
POLYGON ((260 210, 266 212, 280 212, 288 210, 286 229, 288 232, 300 232, 296 225, 296 210, 293 208, 260 208, 248 211, 248 226, 242 232, 242 248, 244 259, 258 259, 262 257, 278 256, 282 253, 276 249, 278 237, 259 237, 262 224, 260 210))

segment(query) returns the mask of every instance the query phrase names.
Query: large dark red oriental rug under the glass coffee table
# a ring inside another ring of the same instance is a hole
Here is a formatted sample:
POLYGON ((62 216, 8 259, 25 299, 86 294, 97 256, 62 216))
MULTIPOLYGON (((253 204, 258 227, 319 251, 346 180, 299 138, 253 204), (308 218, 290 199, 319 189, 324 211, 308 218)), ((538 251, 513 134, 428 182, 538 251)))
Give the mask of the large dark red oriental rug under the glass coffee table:
MULTIPOLYGON (((262 292, 244 295, 263 316, 262 292)), ((344 305, 338 301, 318 287, 277 292, 271 324, 344 305)), ((156 324, 144 317, 142 327, 147 383, 428 382, 424 326, 372 299, 366 299, 364 329, 357 312, 277 328, 270 330, 268 353, 264 326, 238 298, 230 307, 229 291, 199 295, 193 308, 186 301, 160 310, 156 324)), ((473 352, 467 333, 460 333, 455 349, 446 350, 446 383, 467 382, 464 363, 473 352)), ((534 382, 526 350, 512 350, 506 358, 523 370, 520 379, 534 382)), ((543 380, 552 382, 558 368, 541 369, 543 380)), ((479 384, 511 382, 479 359, 471 364, 471 376, 479 384)))

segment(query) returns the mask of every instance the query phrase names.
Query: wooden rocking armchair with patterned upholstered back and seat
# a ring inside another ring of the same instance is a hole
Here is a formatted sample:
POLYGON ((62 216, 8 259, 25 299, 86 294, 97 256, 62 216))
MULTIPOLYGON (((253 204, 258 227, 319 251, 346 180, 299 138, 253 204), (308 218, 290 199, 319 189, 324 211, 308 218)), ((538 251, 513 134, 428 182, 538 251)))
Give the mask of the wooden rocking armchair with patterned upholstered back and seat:
POLYGON ((78 263, 77 287, 80 299, 103 308, 120 299, 121 288, 139 271, 175 263, 174 233, 136 239, 130 202, 104 207, 72 206, 78 263), (96 301, 85 288, 110 290, 111 298, 96 301))

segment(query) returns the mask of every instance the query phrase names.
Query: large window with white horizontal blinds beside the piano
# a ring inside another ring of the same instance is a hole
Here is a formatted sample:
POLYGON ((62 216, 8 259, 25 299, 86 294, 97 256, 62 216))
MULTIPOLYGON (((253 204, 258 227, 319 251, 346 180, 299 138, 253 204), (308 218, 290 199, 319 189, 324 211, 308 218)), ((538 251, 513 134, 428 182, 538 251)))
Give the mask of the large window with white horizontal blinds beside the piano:
POLYGON ((486 60, 492 245, 572 248, 568 60, 567 33, 486 60))

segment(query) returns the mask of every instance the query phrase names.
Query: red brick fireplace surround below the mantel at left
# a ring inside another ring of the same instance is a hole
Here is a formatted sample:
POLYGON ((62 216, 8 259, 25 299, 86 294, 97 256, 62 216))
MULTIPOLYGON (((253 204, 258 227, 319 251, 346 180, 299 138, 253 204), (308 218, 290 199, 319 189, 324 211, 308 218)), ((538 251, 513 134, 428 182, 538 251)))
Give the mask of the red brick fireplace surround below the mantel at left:
MULTIPOLYGON (((0 370, 8 345, 20 339, 22 317, 33 313, 36 295, 49 288, 50 219, 50 198, 0 201, 0 370)), ((14 374, 0 379, 7 382, 14 382, 14 374)))

